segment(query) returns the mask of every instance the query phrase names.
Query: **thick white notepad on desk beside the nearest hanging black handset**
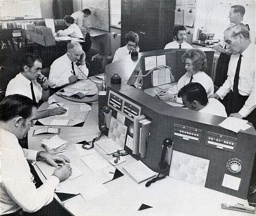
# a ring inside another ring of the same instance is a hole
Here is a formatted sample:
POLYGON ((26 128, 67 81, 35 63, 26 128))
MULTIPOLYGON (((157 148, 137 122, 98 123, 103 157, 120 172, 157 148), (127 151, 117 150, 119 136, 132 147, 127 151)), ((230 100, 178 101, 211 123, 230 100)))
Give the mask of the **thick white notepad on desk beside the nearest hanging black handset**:
POLYGON ((137 160, 131 164, 122 167, 122 170, 132 178, 137 184, 144 182, 154 176, 156 172, 148 168, 140 160, 137 160))

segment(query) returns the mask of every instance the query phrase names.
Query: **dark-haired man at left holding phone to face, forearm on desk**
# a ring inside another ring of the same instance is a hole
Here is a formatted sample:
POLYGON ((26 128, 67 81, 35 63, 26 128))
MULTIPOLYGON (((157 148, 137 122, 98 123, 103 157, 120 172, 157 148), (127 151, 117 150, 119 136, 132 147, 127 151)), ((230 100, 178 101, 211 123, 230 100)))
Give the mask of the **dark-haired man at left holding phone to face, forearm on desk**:
MULTIPOLYGON (((20 58, 20 70, 6 88, 6 96, 21 94, 29 97, 34 102, 46 102, 50 96, 48 79, 41 74, 42 60, 39 56, 27 53, 20 58)), ((61 115, 67 110, 63 107, 38 111, 36 119, 47 116, 61 115)))

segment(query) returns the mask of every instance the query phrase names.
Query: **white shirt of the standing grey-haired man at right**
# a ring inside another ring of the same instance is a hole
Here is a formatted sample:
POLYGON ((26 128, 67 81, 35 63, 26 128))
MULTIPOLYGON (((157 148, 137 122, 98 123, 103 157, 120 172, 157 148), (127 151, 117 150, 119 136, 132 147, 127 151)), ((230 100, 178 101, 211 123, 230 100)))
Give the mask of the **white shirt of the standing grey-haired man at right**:
MULTIPOLYGON (((250 43, 244 50, 241 59, 241 66, 238 79, 238 92, 240 95, 249 96, 244 106, 238 112, 241 116, 247 117, 255 109, 255 44, 250 43)), ((240 54, 231 55, 228 64, 228 78, 216 92, 220 99, 223 99, 230 90, 233 91, 234 76, 240 54)))

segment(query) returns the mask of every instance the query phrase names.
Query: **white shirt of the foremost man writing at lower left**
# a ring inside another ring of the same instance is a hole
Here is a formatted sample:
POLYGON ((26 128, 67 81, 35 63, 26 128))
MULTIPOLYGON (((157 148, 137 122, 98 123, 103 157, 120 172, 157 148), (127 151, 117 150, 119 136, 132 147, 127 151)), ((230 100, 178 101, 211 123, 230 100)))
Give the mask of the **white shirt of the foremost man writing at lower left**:
POLYGON ((56 176, 50 176, 40 188, 34 185, 28 161, 36 161, 38 151, 23 149, 16 136, 0 128, 1 164, 1 215, 18 211, 36 212, 52 202, 54 190, 59 184, 56 176))

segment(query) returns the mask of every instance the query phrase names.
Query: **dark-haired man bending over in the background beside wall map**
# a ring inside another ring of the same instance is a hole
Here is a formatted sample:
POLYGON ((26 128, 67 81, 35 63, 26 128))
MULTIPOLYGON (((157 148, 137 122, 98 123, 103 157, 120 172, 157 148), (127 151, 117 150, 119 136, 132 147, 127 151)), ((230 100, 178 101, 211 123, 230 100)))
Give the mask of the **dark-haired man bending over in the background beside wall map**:
POLYGON ((85 35, 86 32, 88 32, 89 30, 90 26, 86 18, 90 15, 91 15, 91 11, 88 8, 84 9, 83 11, 78 10, 73 14, 71 14, 71 16, 74 18, 74 23, 78 25, 83 35, 85 35))

